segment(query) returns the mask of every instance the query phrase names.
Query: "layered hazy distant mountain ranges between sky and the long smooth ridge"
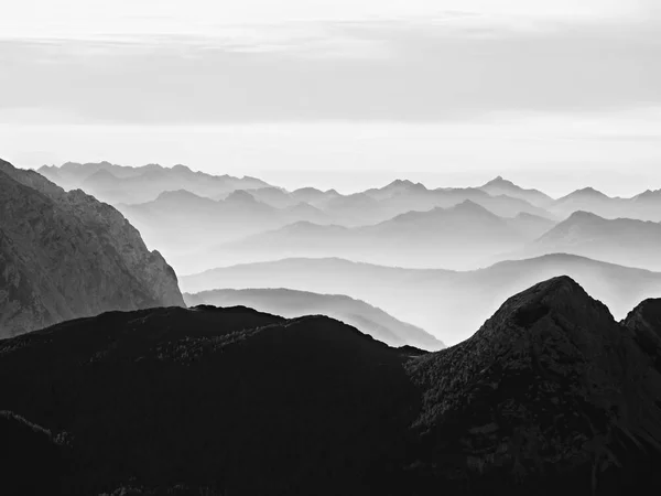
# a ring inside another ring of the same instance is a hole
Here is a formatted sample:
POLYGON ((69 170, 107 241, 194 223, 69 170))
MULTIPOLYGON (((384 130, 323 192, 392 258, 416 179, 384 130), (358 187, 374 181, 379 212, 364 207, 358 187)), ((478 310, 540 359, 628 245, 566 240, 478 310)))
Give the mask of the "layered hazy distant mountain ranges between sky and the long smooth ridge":
POLYGON ((661 190, 613 198, 586 187, 555 200, 498 176, 477 187, 433 190, 397 180, 343 195, 184 165, 69 162, 40 172, 112 203, 180 273, 286 257, 469 270, 554 252, 661 270, 655 227, 615 222, 660 222, 661 190), (598 220, 586 223, 582 212, 614 222, 586 237, 594 230, 586 224, 598 220))

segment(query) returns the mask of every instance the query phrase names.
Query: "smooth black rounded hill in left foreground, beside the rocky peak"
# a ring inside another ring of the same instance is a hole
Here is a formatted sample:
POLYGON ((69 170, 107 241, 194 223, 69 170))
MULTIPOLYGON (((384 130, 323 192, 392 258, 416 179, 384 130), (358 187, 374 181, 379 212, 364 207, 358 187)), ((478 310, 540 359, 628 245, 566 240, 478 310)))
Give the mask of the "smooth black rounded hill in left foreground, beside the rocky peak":
POLYGON ((62 494, 369 494, 405 453, 411 353, 323 316, 113 312, 1 342, 0 409, 73 439, 62 494))

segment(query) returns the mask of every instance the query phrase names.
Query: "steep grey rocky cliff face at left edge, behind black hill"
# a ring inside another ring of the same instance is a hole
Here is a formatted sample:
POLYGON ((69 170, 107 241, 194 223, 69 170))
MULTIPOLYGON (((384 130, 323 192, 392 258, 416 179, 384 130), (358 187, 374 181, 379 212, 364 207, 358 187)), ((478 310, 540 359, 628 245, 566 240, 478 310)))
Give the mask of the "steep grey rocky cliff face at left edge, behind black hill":
POLYGON ((176 276, 119 212, 0 160, 0 337, 160 305, 176 276))

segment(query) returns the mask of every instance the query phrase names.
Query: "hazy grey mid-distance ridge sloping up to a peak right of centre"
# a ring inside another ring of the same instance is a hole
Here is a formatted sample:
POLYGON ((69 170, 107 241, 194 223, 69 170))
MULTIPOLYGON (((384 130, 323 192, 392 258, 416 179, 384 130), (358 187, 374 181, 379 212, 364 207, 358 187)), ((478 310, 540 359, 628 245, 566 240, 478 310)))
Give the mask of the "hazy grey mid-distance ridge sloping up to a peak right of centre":
POLYGON ((523 234, 528 224, 498 217, 469 201, 449 208, 410 212, 373 226, 297 223, 201 250, 188 260, 186 270, 180 271, 199 271, 219 261, 229 266, 275 257, 342 257, 390 266, 475 268, 494 252, 523 247, 532 239, 523 234))

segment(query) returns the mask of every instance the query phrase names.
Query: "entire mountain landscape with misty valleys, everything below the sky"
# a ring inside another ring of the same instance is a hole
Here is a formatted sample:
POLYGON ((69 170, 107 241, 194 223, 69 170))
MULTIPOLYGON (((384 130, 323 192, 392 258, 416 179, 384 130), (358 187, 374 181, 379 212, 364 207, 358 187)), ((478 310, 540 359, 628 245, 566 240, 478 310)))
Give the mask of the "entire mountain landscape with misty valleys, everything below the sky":
POLYGON ((7 495, 661 490, 661 190, 0 160, 7 495))

